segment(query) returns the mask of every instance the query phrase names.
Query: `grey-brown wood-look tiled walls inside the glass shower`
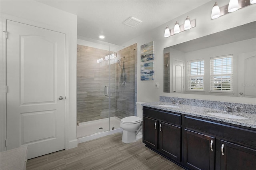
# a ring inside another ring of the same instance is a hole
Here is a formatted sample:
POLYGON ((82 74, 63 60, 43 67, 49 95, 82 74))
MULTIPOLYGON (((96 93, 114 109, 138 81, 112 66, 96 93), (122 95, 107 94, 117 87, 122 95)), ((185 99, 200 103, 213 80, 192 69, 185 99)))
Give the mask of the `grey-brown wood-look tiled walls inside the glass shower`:
MULTIPOLYGON (((104 57, 109 51, 84 45, 77 47, 77 121, 82 123, 108 117, 108 96, 104 95, 105 85, 108 86, 110 96, 110 116, 122 119, 134 115, 137 45, 131 45, 117 52, 118 59, 125 56, 126 86, 118 85, 121 69, 117 63, 114 63, 110 65, 110 88, 108 61, 96 63, 97 58, 104 57)), ((121 81, 123 82, 123 78, 121 81)))

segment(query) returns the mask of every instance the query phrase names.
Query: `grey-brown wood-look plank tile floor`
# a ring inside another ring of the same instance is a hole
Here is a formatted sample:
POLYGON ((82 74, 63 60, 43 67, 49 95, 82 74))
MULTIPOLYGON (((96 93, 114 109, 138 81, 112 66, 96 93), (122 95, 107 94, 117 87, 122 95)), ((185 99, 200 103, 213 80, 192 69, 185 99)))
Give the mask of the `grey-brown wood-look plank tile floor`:
POLYGON ((26 170, 184 170, 142 140, 125 144, 116 133, 28 160, 26 170))

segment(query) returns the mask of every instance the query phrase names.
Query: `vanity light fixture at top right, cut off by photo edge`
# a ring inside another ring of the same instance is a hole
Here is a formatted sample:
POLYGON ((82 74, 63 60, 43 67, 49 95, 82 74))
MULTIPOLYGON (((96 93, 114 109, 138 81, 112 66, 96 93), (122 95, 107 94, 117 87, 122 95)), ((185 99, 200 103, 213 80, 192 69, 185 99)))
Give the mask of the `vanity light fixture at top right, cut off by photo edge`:
POLYGON ((215 2, 214 6, 212 7, 211 18, 219 18, 220 16, 223 16, 230 12, 234 12, 236 10, 239 10, 240 8, 244 8, 254 3, 256 3, 256 0, 230 0, 229 4, 219 8, 217 2, 215 2))

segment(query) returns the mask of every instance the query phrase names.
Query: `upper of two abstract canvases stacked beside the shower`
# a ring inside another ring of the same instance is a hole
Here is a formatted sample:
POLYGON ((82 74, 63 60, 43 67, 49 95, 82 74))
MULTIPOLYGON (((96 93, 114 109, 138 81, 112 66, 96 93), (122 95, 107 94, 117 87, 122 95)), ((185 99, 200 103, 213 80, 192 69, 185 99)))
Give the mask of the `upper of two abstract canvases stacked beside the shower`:
POLYGON ((140 61, 154 59, 154 41, 140 45, 140 61))

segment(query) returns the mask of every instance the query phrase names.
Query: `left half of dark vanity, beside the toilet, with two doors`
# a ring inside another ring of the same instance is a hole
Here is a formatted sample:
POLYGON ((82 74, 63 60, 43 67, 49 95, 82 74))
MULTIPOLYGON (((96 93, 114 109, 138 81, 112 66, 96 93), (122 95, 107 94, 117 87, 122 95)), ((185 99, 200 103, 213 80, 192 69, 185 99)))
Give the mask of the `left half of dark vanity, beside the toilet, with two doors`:
POLYGON ((181 115, 143 108, 143 142, 156 152, 181 161, 181 115))

